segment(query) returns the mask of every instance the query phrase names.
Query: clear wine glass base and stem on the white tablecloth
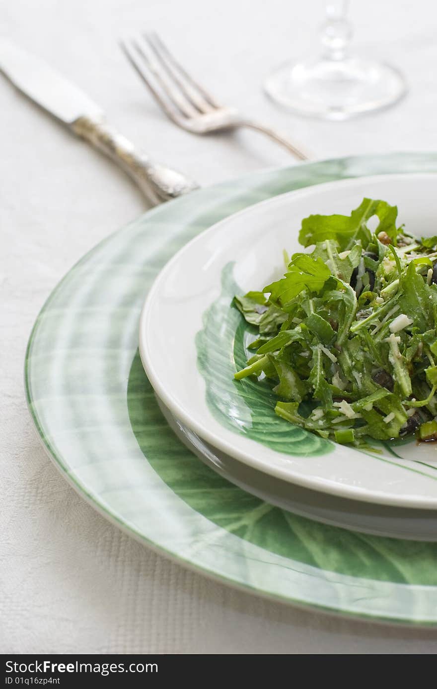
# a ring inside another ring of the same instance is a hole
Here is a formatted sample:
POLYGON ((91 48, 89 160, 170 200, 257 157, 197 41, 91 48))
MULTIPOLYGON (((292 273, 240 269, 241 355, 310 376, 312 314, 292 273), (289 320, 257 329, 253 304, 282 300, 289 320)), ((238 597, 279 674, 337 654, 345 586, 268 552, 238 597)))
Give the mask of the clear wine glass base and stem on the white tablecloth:
POLYGON ((323 49, 315 59, 281 65, 264 83, 275 102, 297 114, 343 120, 387 107, 406 90, 403 76, 385 63, 350 56, 348 0, 326 2, 323 49))

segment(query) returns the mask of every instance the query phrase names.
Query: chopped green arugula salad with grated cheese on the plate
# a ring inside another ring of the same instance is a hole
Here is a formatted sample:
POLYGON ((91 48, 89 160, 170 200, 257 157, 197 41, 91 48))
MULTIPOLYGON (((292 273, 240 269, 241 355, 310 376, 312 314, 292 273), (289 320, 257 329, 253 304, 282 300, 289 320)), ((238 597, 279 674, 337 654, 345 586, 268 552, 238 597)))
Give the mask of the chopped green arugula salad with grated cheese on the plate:
POLYGON ((235 296, 257 328, 235 373, 272 382, 277 415, 370 449, 416 433, 437 440, 437 236, 396 226, 363 199, 350 216, 311 215, 284 277, 235 296))

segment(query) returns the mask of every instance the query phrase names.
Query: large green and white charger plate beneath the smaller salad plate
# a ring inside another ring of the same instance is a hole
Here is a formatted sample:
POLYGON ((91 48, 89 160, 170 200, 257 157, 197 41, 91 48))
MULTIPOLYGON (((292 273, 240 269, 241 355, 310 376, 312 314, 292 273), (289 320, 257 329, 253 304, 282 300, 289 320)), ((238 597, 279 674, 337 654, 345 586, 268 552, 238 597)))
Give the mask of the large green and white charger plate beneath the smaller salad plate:
POLYGON ((48 453, 128 533, 203 573, 290 603, 404 624, 437 624, 437 544, 313 522, 245 493, 176 438, 138 354, 151 282, 218 220, 334 179, 437 172, 437 155, 347 158, 217 185, 154 209, 110 236, 43 307, 26 391, 48 453))

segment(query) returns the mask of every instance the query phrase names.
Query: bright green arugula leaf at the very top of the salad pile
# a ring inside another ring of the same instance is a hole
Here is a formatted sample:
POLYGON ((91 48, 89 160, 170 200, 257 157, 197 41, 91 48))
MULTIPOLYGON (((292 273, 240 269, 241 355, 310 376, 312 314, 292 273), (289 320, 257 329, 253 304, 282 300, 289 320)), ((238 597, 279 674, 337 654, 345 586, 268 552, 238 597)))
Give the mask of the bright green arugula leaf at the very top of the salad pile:
POLYGON ((395 243, 398 233, 396 229, 397 207, 390 206, 386 201, 372 200, 371 198, 363 198, 359 207, 352 211, 350 216, 310 215, 305 218, 302 220, 299 232, 299 243, 308 247, 311 244, 332 239, 337 241, 341 251, 345 251, 352 249, 358 241, 361 241, 365 248, 372 238, 372 233, 366 223, 375 215, 379 218, 375 234, 386 232, 392 243, 395 243))

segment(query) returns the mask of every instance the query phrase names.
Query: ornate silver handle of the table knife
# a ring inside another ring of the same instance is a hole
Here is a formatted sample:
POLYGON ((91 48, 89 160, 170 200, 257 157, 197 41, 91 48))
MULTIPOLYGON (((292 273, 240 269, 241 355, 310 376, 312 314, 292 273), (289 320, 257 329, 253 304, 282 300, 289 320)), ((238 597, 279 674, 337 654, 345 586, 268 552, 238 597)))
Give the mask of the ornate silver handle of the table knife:
POLYGON ((136 151, 134 144, 104 119, 79 117, 72 129, 120 165, 153 205, 198 189, 195 182, 180 172, 152 163, 149 156, 136 151))

